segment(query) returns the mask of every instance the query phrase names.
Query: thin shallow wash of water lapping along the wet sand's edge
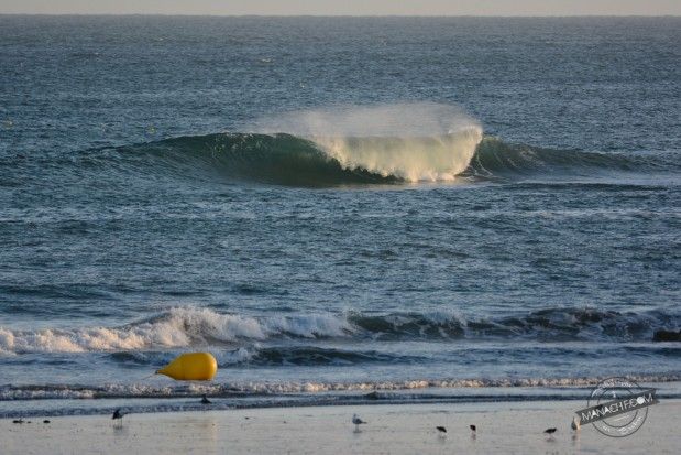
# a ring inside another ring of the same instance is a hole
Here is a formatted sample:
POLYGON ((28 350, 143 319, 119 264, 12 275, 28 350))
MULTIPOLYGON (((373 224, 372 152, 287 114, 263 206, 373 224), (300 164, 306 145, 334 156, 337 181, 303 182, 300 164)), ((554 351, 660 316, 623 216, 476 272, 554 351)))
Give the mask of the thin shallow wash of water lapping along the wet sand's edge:
MULTIPOLYGON (((496 403, 513 407, 532 402, 586 401, 590 386, 527 386, 527 387, 425 387, 398 390, 326 390, 319 392, 248 392, 237 389, 206 388, 188 384, 173 394, 111 396, 12 396, 0 399, 1 419, 62 418, 68 415, 108 415, 121 408, 131 414, 233 411, 259 409, 305 409, 316 407, 372 405, 475 405, 496 403), (200 403, 206 394, 211 403, 200 403)), ((639 382, 653 388, 662 400, 681 400, 681 381, 639 382)), ((9 387, 9 386, 8 386, 9 387)), ((1 388, 0 388, 1 389, 1 388)), ((11 390, 8 389, 10 392, 11 390)), ((7 391, 7 390, 6 390, 7 391)), ((62 390, 62 392, 64 392, 62 390)), ((169 393, 169 392, 168 392, 169 393)), ((0 394, 0 397, 2 397, 0 394)))

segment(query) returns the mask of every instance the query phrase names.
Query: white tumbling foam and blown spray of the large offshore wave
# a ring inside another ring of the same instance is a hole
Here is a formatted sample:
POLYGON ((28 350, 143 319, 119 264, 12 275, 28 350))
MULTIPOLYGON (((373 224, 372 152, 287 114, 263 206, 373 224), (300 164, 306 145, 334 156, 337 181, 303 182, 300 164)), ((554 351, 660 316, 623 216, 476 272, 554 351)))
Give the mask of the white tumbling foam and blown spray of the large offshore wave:
POLYGON ((344 169, 408 182, 455 180, 483 136, 460 108, 432 102, 287 112, 257 128, 309 138, 344 169))

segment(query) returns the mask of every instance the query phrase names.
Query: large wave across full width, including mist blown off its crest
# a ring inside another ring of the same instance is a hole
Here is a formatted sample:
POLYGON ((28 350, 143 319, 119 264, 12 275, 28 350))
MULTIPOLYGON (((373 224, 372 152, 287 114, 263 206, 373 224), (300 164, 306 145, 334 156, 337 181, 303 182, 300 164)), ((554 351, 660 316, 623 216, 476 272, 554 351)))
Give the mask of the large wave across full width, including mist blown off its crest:
POLYGON ((303 187, 570 182, 584 176, 611 177, 620 185, 627 181, 620 178, 623 173, 663 174, 673 180, 681 171, 673 151, 600 153, 508 143, 484 136, 480 122, 460 109, 436 104, 287 112, 262 119, 244 131, 253 132, 183 136, 44 154, 29 164, 18 155, 2 164, 8 169, 31 163, 43 171, 54 167, 78 180, 95 172, 98 180, 114 183, 128 182, 138 173, 144 182, 187 177, 303 187))

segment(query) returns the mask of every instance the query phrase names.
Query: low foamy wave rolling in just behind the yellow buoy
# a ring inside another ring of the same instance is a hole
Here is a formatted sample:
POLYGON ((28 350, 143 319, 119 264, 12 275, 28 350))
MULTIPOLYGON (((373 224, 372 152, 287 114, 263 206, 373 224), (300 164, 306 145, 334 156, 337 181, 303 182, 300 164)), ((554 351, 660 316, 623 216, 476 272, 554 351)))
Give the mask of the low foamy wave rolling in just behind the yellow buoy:
MULTIPOLYGON (((257 343, 282 340, 315 343, 332 339, 356 343, 452 339, 650 342, 656 331, 678 331, 680 328, 678 322, 678 314, 661 310, 618 312, 595 308, 547 308, 497 317, 465 317, 451 312, 246 315, 218 313, 208 308, 178 307, 117 327, 37 331, 0 327, 0 354, 164 351, 207 346, 237 349, 257 343)), ((330 365, 343 361, 395 360, 382 358, 380 353, 358 351, 354 348, 297 349, 301 350, 259 349, 255 354, 235 351, 233 355, 255 355, 262 364, 318 361, 330 365)), ((135 361, 135 358, 122 360, 135 361)), ((402 360, 408 361, 408 359, 402 360)))

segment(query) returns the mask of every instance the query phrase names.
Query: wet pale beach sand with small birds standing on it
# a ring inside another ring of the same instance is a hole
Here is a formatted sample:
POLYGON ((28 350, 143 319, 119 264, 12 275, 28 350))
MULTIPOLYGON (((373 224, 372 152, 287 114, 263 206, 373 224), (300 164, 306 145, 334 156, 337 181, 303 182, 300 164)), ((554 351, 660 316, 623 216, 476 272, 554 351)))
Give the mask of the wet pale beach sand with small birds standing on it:
POLYGON ((607 437, 591 425, 575 435, 582 401, 392 404, 273 408, 0 421, 2 454, 213 454, 213 453, 479 453, 675 454, 681 447, 681 400, 649 408, 646 423, 627 437, 607 437), (361 432, 353 413, 367 421, 361 432), (470 424, 477 426, 475 437, 470 424), (447 427, 446 437, 437 425, 447 427), (551 438, 542 432, 556 426, 551 438))

